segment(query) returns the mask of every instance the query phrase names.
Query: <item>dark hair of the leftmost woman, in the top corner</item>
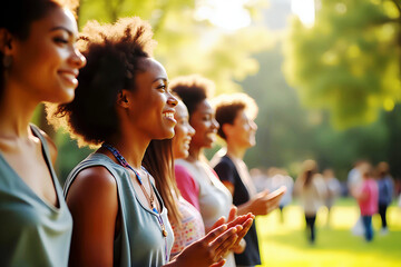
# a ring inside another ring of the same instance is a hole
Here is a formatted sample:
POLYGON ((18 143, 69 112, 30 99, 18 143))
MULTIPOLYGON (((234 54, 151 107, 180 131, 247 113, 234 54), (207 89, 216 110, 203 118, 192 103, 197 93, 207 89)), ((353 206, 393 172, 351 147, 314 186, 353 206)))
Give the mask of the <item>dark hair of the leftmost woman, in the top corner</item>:
MULTIPOLYGON (((79 0, 7 0, 1 2, 0 29, 20 40, 29 37, 30 26, 33 21, 45 18, 55 8, 68 8, 75 13, 79 0)), ((4 37, 0 36, 0 46, 4 46, 4 37)), ((4 90, 4 55, 0 49, 0 100, 4 90)))

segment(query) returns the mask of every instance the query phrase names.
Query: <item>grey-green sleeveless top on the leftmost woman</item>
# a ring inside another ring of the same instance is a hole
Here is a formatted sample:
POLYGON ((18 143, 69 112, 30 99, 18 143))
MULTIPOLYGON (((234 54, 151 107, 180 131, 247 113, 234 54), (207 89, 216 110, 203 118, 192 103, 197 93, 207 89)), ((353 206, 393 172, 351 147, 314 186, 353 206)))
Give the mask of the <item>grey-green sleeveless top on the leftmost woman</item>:
POLYGON ((59 208, 35 194, 0 152, 0 266, 67 266, 72 219, 51 166, 46 139, 42 154, 51 174, 59 208))

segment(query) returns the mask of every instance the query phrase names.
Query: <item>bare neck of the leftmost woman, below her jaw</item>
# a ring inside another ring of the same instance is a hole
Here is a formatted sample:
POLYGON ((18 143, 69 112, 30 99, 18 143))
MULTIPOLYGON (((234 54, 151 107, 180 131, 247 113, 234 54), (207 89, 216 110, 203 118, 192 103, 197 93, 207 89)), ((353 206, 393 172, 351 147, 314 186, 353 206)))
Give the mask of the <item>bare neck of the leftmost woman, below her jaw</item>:
POLYGON ((40 103, 27 96, 23 90, 12 86, 4 88, 0 102, 0 137, 28 138, 31 134, 29 122, 36 107, 40 103))

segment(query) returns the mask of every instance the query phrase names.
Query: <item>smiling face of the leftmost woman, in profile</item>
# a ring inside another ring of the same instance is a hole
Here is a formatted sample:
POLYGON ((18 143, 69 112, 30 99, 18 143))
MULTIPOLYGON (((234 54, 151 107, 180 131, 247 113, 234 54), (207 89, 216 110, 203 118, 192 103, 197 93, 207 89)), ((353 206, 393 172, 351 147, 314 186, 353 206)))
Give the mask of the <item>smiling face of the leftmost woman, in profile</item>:
POLYGON ((78 29, 72 13, 55 8, 30 24, 27 39, 12 38, 10 83, 37 101, 69 102, 78 86, 85 57, 76 49, 78 29))

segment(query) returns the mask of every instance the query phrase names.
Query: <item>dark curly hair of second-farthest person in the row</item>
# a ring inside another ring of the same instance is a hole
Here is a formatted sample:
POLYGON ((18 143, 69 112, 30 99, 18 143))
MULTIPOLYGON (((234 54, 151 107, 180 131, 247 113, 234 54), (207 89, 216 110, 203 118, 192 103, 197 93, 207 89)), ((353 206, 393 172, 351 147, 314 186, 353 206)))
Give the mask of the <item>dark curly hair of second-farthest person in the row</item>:
POLYGON ((169 88, 175 92, 188 108, 189 118, 196 110, 197 105, 213 96, 215 85, 213 81, 199 76, 183 76, 173 79, 169 88))

